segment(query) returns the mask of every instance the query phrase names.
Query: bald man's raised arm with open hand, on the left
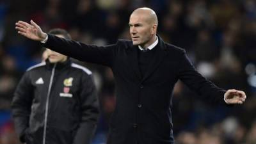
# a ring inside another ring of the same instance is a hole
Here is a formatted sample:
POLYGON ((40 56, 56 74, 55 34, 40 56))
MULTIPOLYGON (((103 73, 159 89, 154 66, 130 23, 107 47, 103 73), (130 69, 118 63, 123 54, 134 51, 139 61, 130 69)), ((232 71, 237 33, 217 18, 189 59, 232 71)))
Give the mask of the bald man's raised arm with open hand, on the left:
POLYGON ((16 22, 16 29, 20 35, 39 42, 43 42, 48 36, 47 42, 42 44, 44 47, 80 61, 111 67, 115 60, 117 44, 99 47, 97 45, 87 45, 73 40, 66 40, 54 35, 47 35, 33 20, 30 21, 30 24, 24 21, 16 22))

